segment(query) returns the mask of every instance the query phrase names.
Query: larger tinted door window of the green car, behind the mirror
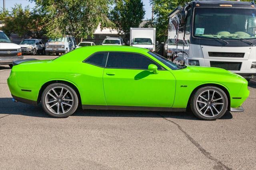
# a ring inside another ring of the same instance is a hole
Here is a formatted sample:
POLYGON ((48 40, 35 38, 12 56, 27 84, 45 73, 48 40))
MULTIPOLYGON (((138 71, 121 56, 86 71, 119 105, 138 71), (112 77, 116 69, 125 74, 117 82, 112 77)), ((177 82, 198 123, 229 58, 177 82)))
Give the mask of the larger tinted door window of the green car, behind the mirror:
POLYGON ((148 57, 137 53, 126 52, 110 52, 108 54, 107 68, 120 68, 120 69, 148 69, 148 65, 154 64, 158 69, 162 69, 153 60, 148 57))

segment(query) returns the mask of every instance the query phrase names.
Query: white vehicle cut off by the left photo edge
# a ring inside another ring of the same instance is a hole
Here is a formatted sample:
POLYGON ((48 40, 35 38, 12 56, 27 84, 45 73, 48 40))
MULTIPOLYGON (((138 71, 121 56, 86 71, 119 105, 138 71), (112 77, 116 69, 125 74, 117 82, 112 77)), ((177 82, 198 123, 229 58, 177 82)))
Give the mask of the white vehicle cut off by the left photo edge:
POLYGON ((12 67, 12 61, 23 59, 20 45, 11 40, 0 30, 0 65, 12 67))

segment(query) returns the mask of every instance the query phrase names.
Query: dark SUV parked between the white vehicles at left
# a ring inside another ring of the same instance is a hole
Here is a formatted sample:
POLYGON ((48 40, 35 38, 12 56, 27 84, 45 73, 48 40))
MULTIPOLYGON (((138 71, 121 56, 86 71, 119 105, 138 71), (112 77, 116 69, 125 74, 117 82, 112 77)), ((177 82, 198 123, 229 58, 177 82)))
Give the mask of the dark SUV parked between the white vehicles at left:
POLYGON ((44 55, 45 53, 44 42, 41 39, 24 39, 20 42, 20 47, 22 54, 36 55, 37 53, 41 53, 44 55))

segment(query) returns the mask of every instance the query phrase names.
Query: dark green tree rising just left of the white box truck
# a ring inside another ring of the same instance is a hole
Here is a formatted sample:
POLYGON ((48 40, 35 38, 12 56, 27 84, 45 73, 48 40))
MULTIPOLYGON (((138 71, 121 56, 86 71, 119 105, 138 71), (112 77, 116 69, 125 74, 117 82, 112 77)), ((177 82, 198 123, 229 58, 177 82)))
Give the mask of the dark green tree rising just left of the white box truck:
POLYGON ((110 11, 110 20, 126 40, 130 38, 130 27, 139 27, 145 15, 141 0, 116 0, 110 11))

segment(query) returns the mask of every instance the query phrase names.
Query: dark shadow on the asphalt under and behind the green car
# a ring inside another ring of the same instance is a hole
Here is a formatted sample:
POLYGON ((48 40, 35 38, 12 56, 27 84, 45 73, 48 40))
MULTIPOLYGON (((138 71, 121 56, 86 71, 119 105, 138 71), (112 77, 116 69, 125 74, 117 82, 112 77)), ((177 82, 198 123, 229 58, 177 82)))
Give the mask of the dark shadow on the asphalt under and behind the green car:
MULTIPOLYGON (((52 118, 48 116, 42 105, 38 106, 28 105, 20 102, 12 102, 12 98, 0 98, 0 119, 1 115, 23 115, 29 117, 52 118)), ((193 113, 187 112, 157 112, 157 111, 117 111, 117 110, 78 110, 71 116, 84 117, 151 117, 151 118, 172 118, 172 119, 186 119, 199 120, 193 113)), ((221 119, 232 119, 232 114, 227 111, 221 119)))

